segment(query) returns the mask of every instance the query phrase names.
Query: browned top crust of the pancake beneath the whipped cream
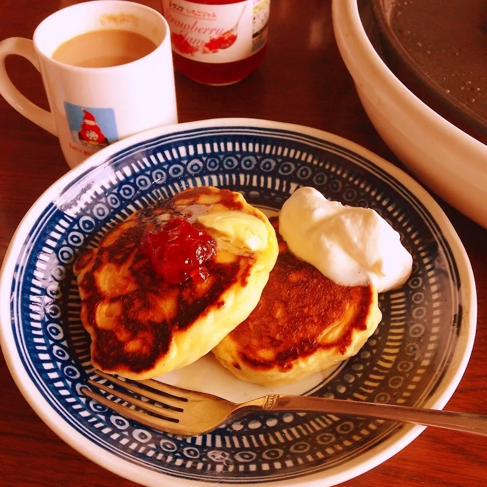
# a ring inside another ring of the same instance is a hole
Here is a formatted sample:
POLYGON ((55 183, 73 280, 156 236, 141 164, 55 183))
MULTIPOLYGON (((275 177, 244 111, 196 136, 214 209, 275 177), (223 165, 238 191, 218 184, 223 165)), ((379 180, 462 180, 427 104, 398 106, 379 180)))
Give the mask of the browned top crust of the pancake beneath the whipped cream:
POLYGON ((344 355, 354 332, 367 329, 373 288, 340 286, 329 280, 295 257, 279 234, 279 219, 269 220, 276 231, 279 256, 259 304, 229 335, 237 344, 239 359, 254 369, 286 371, 295 360, 319 350, 336 349, 344 355), (322 340, 337 322, 347 326, 333 340, 322 340))

